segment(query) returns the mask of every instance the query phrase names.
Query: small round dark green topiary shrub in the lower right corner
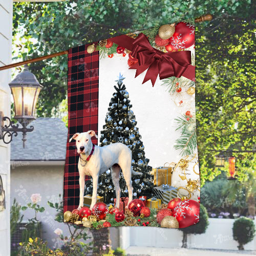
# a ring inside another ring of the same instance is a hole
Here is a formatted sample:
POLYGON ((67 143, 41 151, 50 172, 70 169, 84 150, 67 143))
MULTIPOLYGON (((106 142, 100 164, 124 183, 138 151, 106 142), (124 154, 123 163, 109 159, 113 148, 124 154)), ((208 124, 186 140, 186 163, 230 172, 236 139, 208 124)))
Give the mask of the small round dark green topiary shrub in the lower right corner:
POLYGON ((232 230, 233 239, 239 243, 239 250, 244 250, 244 245, 252 241, 255 235, 254 223, 246 217, 240 217, 234 221, 232 230))

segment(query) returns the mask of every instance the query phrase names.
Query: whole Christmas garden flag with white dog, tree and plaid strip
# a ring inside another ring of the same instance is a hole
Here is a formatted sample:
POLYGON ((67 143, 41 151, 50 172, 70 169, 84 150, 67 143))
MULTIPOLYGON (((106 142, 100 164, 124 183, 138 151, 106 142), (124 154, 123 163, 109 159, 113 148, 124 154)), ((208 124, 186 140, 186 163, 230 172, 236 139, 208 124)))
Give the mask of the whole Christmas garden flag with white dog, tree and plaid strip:
POLYGON ((199 222, 194 20, 69 50, 65 222, 199 222))

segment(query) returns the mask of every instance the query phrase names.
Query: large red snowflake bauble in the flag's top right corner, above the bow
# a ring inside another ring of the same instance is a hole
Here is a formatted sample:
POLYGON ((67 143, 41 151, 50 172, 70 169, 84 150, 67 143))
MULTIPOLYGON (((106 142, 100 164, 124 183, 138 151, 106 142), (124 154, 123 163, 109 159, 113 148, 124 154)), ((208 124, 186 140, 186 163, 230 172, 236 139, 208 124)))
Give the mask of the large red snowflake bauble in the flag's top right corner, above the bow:
POLYGON ((170 38, 170 44, 177 49, 193 46, 195 44, 195 26, 184 22, 178 23, 175 26, 175 33, 170 38))

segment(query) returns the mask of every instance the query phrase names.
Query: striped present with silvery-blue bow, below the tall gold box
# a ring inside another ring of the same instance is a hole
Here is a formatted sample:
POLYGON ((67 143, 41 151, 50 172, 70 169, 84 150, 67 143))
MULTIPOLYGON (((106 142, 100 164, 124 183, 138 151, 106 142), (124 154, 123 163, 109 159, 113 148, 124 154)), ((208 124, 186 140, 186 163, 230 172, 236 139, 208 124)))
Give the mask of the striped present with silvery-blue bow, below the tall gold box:
POLYGON ((162 184, 161 186, 154 187, 153 193, 157 198, 162 200, 163 204, 168 204, 171 199, 177 197, 178 188, 168 184, 162 184))

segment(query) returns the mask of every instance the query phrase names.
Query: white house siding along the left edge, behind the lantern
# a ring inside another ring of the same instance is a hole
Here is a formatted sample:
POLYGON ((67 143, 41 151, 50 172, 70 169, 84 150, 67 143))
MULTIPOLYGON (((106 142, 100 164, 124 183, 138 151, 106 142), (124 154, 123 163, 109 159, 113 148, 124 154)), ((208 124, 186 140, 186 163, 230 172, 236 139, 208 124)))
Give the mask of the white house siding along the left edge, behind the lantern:
MULTIPOLYGON (((0 66, 11 63, 12 0, 0 0, 0 66)), ((10 116, 10 70, 0 71, 0 111, 10 116)), ((0 175, 6 193, 6 209, 0 211, 0 255, 10 255, 10 146, 0 140, 0 175)))

